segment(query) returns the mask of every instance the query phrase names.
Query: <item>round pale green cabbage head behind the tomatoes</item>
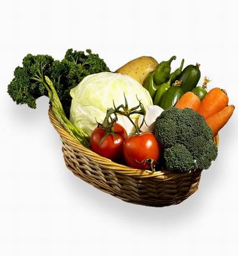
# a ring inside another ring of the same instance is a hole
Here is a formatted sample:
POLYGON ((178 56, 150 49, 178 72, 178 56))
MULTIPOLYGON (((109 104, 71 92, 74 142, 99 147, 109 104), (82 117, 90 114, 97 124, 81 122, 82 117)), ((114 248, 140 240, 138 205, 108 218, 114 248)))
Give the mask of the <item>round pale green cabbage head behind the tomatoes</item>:
MULTIPOLYGON (((72 97, 71 123, 83 129, 90 136, 97 126, 96 121, 102 123, 107 109, 113 107, 113 101, 116 107, 125 104, 124 93, 129 108, 138 105, 137 98, 142 101, 144 107, 153 104, 148 90, 130 76, 102 72, 84 77, 79 85, 70 91, 72 97)), ((133 126, 125 118, 127 119, 127 117, 118 117, 118 123, 123 125, 127 133, 133 132, 133 126)), ((139 115, 134 114, 132 118, 137 121, 139 115)))

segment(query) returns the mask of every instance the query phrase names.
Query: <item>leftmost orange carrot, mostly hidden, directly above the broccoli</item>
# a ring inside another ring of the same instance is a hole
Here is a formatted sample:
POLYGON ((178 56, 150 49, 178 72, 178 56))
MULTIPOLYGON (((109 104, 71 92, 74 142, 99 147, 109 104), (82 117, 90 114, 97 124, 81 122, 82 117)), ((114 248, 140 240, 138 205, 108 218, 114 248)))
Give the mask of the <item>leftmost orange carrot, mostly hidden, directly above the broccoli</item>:
POLYGON ((194 111, 198 111, 201 101, 197 95, 193 92, 186 92, 179 99, 174 107, 176 108, 192 108, 194 111))

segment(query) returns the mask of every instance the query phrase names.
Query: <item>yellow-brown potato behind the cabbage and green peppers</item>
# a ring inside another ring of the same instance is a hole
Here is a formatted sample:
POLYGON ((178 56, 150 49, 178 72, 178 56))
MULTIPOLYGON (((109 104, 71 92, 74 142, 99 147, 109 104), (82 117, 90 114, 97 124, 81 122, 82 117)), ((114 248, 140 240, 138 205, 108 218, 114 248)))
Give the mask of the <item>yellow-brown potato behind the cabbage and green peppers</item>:
POLYGON ((118 68, 115 73, 127 74, 143 85, 146 76, 155 70, 156 65, 158 65, 158 62, 153 57, 142 56, 129 61, 129 63, 118 68))

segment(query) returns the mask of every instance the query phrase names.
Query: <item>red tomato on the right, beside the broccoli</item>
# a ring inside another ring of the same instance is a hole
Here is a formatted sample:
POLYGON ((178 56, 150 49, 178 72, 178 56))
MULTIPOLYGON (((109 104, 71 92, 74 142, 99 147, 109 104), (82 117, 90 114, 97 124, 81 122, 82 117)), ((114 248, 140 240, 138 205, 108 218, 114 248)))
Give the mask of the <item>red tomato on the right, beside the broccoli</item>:
POLYGON ((150 161, 153 160, 155 162, 153 166, 155 166, 159 160, 161 145, 153 133, 132 135, 124 142, 123 154, 130 167, 149 170, 151 169, 150 161))

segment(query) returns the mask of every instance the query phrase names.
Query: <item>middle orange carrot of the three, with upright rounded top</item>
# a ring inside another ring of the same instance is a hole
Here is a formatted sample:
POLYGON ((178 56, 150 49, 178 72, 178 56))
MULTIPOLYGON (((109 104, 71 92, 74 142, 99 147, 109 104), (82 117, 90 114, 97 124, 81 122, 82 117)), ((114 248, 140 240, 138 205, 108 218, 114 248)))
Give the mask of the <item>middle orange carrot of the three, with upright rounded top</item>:
POLYGON ((198 113, 206 119, 218 113, 228 104, 226 90, 220 88, 211 89, 202 99, 198 113))

